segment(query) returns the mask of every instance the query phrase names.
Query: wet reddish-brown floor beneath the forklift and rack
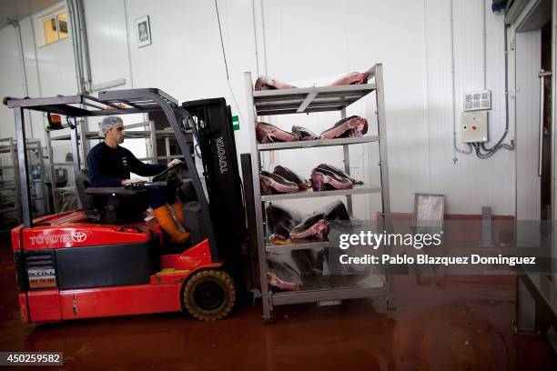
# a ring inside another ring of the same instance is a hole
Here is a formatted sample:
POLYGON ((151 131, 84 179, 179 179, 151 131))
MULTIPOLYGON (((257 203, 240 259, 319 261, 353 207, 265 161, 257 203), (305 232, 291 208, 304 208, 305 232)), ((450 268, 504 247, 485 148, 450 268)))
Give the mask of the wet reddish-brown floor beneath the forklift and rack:
POLYGON ((387 314, 352 300, 279 306, 263 324, 257 303, 213 323, 164 314, 35 326, 21 323, 4 241, 0 351, 62 351, 64 369, 75 370, 555 370, 543 336, 513 333, 515 281, 397 276, 397 309, 387 314))

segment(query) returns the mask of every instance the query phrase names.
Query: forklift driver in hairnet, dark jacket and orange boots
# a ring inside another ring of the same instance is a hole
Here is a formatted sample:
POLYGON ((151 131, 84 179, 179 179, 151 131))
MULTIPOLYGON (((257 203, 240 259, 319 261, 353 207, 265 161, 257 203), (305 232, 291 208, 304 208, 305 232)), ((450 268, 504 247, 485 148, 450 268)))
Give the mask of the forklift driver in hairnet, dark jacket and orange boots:
MULTIPOLYGON (((118 116, 106 116, 101 123, 101 135, 105 141, 95 145, 87 155, 89 178, 93 186, 127 186, 137 182, 130 179, 130 173, 141 176, 157 175, 167 167, 180 164, 177 158, 165 165, 145 164, 137 159, 127 148, 119 144, 126 135, 124 122, 118 116)), ((189 233, 181 232, 177 227, 168 205, 175 211, 177 219, 184 225, 183 204, 177 201, 176 190, 167 186, 147 185, 149 205, 158 224, 171 237, 174 244, 182 244, 189 233)))

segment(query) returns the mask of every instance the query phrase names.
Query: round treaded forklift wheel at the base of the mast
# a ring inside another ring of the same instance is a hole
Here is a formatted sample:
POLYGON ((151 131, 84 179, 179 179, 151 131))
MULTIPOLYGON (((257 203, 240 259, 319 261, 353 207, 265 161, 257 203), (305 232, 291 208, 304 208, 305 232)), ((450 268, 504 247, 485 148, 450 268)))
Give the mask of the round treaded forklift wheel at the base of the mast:
POLYGON ((202 321, 215 321, 228 316, 236 301, 234 281, 227 272, 208 269, 197 272, 184 286, 187 312, 202 321))

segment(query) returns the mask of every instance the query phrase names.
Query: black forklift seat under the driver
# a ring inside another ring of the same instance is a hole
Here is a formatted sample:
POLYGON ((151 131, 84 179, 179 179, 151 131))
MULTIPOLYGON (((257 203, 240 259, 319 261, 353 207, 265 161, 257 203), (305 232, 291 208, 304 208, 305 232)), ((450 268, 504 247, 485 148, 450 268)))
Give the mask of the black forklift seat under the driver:
POLYGON ((94 187, 85 169, 76 176, 76 190, 87 220, 95 223, 137 223, 143 220, 148 207, 147 190, 125 186, 94 187))

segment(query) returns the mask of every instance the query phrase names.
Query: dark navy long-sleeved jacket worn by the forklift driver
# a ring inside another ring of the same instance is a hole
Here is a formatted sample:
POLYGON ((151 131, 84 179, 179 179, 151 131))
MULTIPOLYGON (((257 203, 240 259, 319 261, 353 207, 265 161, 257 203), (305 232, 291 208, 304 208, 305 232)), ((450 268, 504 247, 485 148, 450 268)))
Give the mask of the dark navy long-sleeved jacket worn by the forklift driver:
POLYGON ((149 165, 137 159, 127 148, 110 148, 105 142, 95 145, 87 155, 89 179, 93 186, 122 186, 130 173, 141 176, 157 175, 166 165, 149 165))

